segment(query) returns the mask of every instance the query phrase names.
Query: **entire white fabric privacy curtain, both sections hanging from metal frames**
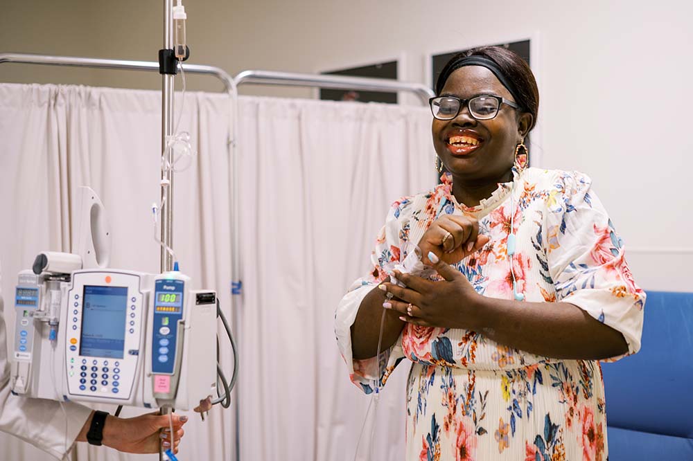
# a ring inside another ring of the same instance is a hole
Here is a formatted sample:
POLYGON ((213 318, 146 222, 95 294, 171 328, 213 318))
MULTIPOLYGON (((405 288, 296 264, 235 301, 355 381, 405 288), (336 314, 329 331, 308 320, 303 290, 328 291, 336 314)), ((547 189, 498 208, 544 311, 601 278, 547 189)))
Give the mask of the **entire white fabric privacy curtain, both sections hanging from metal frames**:
MULTIPOLYGON (((159 270, 151 205, 159 199, 160 116, 157 91, 0 84, 6 298, 37 252, 69 251, 71 207, 82 185, 94 188, 107 210, 112 267, 159 270)), ((181 128, 198 155, 175 177, 174 246, 182 271, 198 287, 217 289, 234 318, 240 377, 236 408, 214 408, 204 423, 191 415, 179 459, 236 460, 238 432, 243 461, 352 460, 369 397, 349 382, 334 310, 367 270, 390 202, 435 184, 430 113, 240 98, 243 295, 233 309, 227 97, 188 94, 181 128)), ((12 337, 10 302, 5 316, 12 337)), ((230 372, 226 344, 222 337, 230 372)), ((373 460, 403 458, 407 368, 400 366, 380 398, 373 460)), ((123 415, 142 412, 125 408, 123 415)), ((3 459, 52 459, 8 435, 0 434, 0 446, 3 459)), ((73 459, 152 455, 79 444, 73 459)))

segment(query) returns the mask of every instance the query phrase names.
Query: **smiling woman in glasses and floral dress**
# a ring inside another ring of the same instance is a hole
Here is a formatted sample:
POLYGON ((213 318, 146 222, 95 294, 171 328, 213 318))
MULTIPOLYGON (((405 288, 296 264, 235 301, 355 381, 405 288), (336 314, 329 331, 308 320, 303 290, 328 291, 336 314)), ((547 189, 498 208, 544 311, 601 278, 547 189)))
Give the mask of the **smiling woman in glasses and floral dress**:
POLYGON ((407 460, 606 460, 597 361, 638 351, 645 299, 621 239, 585 174, 525 168, 538 89, 518 55, 457 55, 436 93, 450 173, 394 202, 337 308, 351 379, 370 393, 413 362, 407 460))

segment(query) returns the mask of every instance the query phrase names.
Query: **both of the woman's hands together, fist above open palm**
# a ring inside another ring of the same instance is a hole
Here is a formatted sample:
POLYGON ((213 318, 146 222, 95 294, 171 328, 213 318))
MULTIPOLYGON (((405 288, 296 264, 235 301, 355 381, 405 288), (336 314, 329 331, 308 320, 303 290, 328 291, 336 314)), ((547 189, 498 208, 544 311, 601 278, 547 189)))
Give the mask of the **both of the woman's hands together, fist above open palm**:
POLYGON ((443 280, 433 282, 416 275, 394 271, 405 288, 385 282, 378 288, 387 296, 383 307, 402 314, 400 320, 423 327, 473 327, 473 306, 480 295, 471 283, 450 266, 479 251, 489 237, 479 235, 479 223, 466 216, 440 217, 421 237, 421 261, 435 269, 443 280), (391 297, 394 296, 394 297, 391 297))

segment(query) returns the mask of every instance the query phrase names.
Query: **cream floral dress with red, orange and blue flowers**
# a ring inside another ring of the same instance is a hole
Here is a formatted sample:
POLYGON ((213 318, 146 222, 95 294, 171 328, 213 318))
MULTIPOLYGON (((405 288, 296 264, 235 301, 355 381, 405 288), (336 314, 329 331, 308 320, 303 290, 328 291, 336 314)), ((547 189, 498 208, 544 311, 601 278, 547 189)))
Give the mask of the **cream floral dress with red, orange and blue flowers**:
POLYGON ((478 293, 513 298, 507 255, 512 223, 514 272, 525 300, 570 302, 621 332, 627 354, 640 349, 645 293, 633 281, 622 240, 589 177, 528 168, 514 172, 513 181, 499 184, 475 207, 458 204, 450 177, 443 179, 432 191, 392 204, 371 257, 373 269, 337 307, 337 343, 351 381, 369 394, 385 385, 398 363, 412 363, 405 450, 410 461, 606 460, 604 383, 597 361, 550 359, 477 332, 412 324, 380 354, 380 363, 352 358, 350 327, 361 301, 414 253, 443 214, 475 217, 481 233, 491 237, 454 265, 478 293))

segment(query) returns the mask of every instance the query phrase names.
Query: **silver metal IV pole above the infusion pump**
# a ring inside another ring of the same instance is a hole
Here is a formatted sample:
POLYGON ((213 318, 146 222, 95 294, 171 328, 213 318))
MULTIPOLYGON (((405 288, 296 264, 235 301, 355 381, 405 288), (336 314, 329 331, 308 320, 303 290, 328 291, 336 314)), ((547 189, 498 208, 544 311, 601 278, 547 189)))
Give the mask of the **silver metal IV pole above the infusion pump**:
MULTIPOLYGON (((164 0, 164 49, 173 48, 173 0, 164 0)), ((173 134, 173 96, 175 75, 167 73, 161 74, 161 152, 166 149, 166 140, 173 134)), ((164 153, 168 160, 168 165, 173 165, 173 151, 166 150, 164 153)), ((168 187, 162 189, 161 201, 164 206, 161 208, 161 272, 173 270, 173 256, 166 251, 173 248, 173 171, 166 168, 161 175, 161 179, 168 181, 168 187), (164 197, 165 195, 165 197, 164 197)))

